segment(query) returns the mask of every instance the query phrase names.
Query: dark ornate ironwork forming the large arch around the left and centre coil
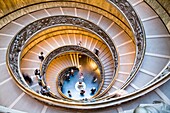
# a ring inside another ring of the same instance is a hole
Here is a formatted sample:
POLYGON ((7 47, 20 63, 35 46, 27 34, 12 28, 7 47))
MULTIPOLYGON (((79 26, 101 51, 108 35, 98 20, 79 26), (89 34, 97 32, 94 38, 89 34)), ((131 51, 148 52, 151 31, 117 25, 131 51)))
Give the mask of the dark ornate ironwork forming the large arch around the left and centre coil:
MULTIPOLYGON (((58 25, 73 25, 85 28, 87 30, 90 30, 97 34, 101 39, 103 39, 104 42, 109 46, 109 49, 111 50, 113 59, 115 60, 115 73, 118 66, 118 54, 116 52, 115 46, 112 42, 112 40, 109 38, 109 36, 97 25, 93 24, 92 22, 89 22, 87 20, 78 18, 78 17, 72 17, 72 16, 52 16, 43 18, 40 20, 37 20, 25 28, 23 28, 12 40, 12 43, 10 44, 10 48, 7 54, 9 54, 9 66, 11 68, 11 71, 13 74, 22 82, 22 79, 20 79, 19 74, 19 53, 21 52, 22 48, 26 44, 26 42, 37 32, 53 26, 58 25)), ((115 74, 114 73, 114 74, 115 74)), ((24 83, 24 82, 23 82, 24 83)))

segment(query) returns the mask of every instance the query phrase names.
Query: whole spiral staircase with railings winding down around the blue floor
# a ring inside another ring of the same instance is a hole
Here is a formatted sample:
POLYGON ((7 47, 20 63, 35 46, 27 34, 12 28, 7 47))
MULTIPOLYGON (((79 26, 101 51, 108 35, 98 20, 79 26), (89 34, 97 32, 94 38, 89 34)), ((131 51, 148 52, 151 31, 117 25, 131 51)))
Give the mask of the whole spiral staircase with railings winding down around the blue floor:
POLYGON ((0 2, 0 112, 133 113, 155 100, 170 104, 170 30, 148 0, 19 3, 0 2), (79 67, 71 48, 94 56, 104 70, 98 94, 87 101, 65 98, 56 88, 63 69, 79 67), (35 69, 52 96, 36 92, 41 86, 35 69), (119 90, 126 94, 116 97, 119 90))

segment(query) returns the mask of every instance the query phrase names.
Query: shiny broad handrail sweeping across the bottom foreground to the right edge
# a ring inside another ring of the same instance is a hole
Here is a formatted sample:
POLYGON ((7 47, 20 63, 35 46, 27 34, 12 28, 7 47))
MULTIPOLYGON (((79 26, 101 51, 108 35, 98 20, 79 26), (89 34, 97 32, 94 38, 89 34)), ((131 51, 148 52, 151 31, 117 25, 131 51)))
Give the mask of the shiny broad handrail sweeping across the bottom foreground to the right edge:
MULTIPOLYGON (((161 79, 148 85, 145 88, 142 88, 136 92, 133 92, 130 95, 122 96, 119 98, 111 98, 110 100, 90 101, 90 103, 75 103, 75 102, 70 102, 69 100, 67 100, 67 102, 65 102, 63 100, 54 100, 54 99, 50 99, 48 97, 42 97, 42 96, 38 96, 38 95, 37 96, 41 101, 44 101, 46 103, 50 102, 51 105, 55 105, 55 106, 62 106, 62 107, 76 108, 76 109, 95 109, 98 107, 103 108, 103 107, 113 106, 113 105, 117 105, 117 104, 120 104, 123 102, 130 101, 132 99, 138 98, 138 97, 145 95, 146 93, 156 89, 157 87, 164 84, 166 81, 168 81, 170 79, 170 72, 166 73, 166 74, 163 72, 163 75, 164 76, 161 79)), ((17 83, 17 85, 21 85, 21 84, 17 83)), ((21 87, 21 86, 19 86, 19 87, 24 88, 24 90, 27 90, 27 88, 25 88, 25 87, 21 87)), ((33 96, 34 98, 37 97, 34 95, 31 95, 31 96, 33 96)))

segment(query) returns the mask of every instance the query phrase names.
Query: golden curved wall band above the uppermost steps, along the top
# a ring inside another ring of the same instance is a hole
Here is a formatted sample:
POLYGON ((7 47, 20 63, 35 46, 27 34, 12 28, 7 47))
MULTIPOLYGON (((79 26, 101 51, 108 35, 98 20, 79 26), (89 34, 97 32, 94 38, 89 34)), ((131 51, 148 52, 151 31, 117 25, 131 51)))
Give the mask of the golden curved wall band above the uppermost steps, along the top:
POLYGON ((120 18, 116 14, 113 14, 112 12, 109 12, 108 10, 101 8, 101 6, 97 6, 97 5, 89 4, 89 3, 83 3, 80 1, 76 1, 76 0, 75 1, 62 1, 61 0, 60 4, 58 4, 58 1, 56 2, 55 0, 50 0, 50 1, 33 3, 30 5, 24 6, 22 8, 14 10, 14 11, 8 13, 7 15, 4 15, 3 17, 1 17, 0 18, 1 28, 6 26, 11 21, 14 21, 14 20, 18 19, 19 17, 24 16, 27 13, 33 13, 38 10, 49 9, 49 8, 54 8, 54 7, 78 8, 78 9, 83 9, 83 10, 90 10, 91 12, 95 12, 100 15, 104 15, 106 18, 108 18, 112 21, 115 21, 116 24, 118 24, 122 29, 124 29, 130 37, 132 36, 132 33, 130 32, 129 25, 126 23, 126 21, 122 21, 121 20, 122 18, 120 18), (41 7, 37 7, 40 4, 44 4, 44 5, 41 7), (70 4, 72 4, 72 5, 70 5, 70 4), (30 8, 30 7, 33 7, 33 8, 30 8), (29 10, 27 10, 27 9, 29 9, 29 10), (98 10, 96 10, 96 9, 98 9, 98 10), (27 10, 27 12, 20 13, 22 10, 27 10), (17 13, 17 15, 15 15, 16 13, 17 13), (12 18, 9 18, 9 17, 12 17, 12 18), (8 19, 8 21, 3 21, 6 19, 8 19))

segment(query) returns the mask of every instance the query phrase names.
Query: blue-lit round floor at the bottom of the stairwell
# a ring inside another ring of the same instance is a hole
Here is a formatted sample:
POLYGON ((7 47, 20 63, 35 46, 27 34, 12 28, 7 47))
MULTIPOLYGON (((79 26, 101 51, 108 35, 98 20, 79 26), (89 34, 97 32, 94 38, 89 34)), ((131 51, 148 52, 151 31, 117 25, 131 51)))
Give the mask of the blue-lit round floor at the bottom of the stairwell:
POLYGON ((84 95, 80 94, 81 89, 78 88, 79 84, 79 77, 80 77, 80 72, 78 70, 74 70, 74 75, 70 76, 69 80, 65 80, 63 82, 62 86, 62 93, 67 96, 68 98, 72 98, 74 100, 81 100, 85 98, 90 98, 94 96, 94 94, 97 92, 98 87, 99 87, 99 81, 97 80, 96 82, 93 82, 93 77, 94 75, 90 74, 89 72, 85 72, 85 70, 82 72, 84 76, 84 80, 82 82, 83 89, 85 91, 84 95), (95 87, 96 91, 94 94, 91 93, 91 89, 95 87), (71 96, 68 94, 68 90, 71 92, 71 96))

